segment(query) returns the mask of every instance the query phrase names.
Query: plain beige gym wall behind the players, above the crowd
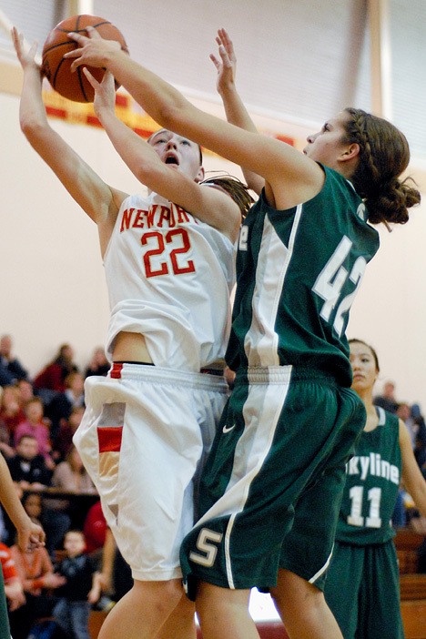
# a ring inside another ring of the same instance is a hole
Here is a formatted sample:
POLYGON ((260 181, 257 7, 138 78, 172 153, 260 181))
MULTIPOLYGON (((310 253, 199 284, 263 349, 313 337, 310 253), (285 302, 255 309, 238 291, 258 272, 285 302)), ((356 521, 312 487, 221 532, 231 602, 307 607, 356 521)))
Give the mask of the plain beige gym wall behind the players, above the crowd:
MULTIPOLYGON (((18 97, 2 89, 0 83, 0 334, 14 336, 15 352, 32 374, 64 341, 85 366, 104 341, 108 318, 96 227, 29 147, 19 129, 18 97)), ((106 182, 140 190, 102 131, 58 120, 52 126, 106 182)), ((229 168, 211 156, 206 165, 229 168)), ((399 398, 420 401, 426 411, 425 213, 426 198, 408 225, 380 232, 380 253, 367 270, 348 332, 378 350, 379 386, 395 380, 399 398)))

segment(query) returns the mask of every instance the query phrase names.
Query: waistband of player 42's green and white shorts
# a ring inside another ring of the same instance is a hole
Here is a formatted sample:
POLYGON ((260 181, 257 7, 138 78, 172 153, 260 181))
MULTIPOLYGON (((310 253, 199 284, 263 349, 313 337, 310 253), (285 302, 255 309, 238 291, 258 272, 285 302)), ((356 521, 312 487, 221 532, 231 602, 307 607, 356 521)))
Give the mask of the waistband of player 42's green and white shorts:
POLYGON ((236 384, 286 384, 290 381, 318 381, 331 386, 340 385, 329 372, 308 366, 249 366, 238 369, 235 379, 236 384))

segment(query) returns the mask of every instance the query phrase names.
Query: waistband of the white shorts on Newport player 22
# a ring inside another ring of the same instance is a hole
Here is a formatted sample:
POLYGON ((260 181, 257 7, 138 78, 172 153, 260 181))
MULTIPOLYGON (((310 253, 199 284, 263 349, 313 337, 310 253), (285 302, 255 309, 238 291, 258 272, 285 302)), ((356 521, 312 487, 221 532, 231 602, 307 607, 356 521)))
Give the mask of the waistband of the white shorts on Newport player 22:
POLYGON ((115 361, 108 371, 113 380, 151 380, 161 383, 208 388, 216 391, 227 391, 228 384, 223 372, 216 369, 191 370, 167 369, 144 361, 115 361))

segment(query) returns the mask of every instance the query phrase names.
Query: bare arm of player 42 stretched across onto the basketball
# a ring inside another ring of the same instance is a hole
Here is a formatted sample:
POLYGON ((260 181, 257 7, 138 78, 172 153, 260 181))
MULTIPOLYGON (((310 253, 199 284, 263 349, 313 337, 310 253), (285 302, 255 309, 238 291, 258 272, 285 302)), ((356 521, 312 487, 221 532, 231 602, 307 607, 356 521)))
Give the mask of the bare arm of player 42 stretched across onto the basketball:
POLYGON ((88 37, 70 34, 79 47, 66 54, 79 65, 106 66, 117 81, 160 125, 215 151, 264 177, 271 187, 270 203, 289 208, 316 195, 324 183, 320 167, 293 147, 245 131, 191 105, 173 86, 103 40, 87 27, 88 37))

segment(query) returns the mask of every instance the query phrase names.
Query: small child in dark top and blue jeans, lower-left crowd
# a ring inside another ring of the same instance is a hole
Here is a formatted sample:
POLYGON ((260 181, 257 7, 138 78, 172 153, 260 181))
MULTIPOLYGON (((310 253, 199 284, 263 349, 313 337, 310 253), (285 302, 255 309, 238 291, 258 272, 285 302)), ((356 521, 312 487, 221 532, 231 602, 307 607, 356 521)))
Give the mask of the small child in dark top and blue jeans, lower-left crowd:
POLYGON ((65 559, 57 573, 66 578, 58 590, 61 597, 54 608, 56 624, 73 639, 90 639, 88 618, 91 604, 101 593, 100 575, 92 559, 85 554, 86 540, 81 531, 68 531, 65 536, 65 559))

